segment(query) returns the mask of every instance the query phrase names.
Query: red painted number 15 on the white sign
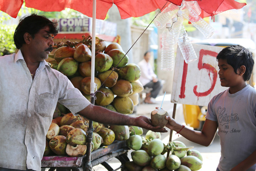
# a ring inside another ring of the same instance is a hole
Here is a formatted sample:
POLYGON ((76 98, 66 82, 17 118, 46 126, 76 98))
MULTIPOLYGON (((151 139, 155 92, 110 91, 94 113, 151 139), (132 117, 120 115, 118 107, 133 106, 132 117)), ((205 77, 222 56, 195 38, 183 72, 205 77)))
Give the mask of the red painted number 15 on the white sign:
MULTIPOLYGON (((203 57, 205 55, 210 55, 210 56, 216 58, 218 53, 213 52, 213 51, 204 50, 204 49, 201 49, 199 52, 199 60, 198 60, 197 67, 199 70, 201 70, 201 69, 207 70, 209 79, 211 80, 211 87, 205 92, 197 92, 197 85, 195 85, 193 92, 197 97, 203 97, 203 96, 209 95, 212 92, 212 90, 214 89, 214 86, 215 86, 215 83, 217 80, 217 76, 218 76, 216 69, 212 65, 203 63, 203 57), (212 73, 212 77, 210 75, 211 73, 212 73)), ((179 95, 180 98, 185 98, 185 85, 186 85, 187 74, 188 74, 188 64, 185 63, 185 61, 184 61, 182 81, 181 81, 181 87, 180 87, 180 95, 179 95)))

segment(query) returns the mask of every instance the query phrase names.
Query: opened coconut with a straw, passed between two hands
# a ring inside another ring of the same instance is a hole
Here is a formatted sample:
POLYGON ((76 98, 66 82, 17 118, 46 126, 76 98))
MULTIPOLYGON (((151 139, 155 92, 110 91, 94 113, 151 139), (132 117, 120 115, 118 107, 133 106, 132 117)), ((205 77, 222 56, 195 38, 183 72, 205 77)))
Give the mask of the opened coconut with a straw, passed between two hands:
MULTIPOLYGON (((164 96, 165 96, 165 93, 164 93, 164 96)), ((163 105, 163 102, 164 102, 164 98, 162 101, 162 105, 163 105)), ((162 109, 162 105, 160 108, 157 108, 151 112, 151 121, 155 127, 160 126, 161 128, 164 128, 164 126, 168 122, 168 120, 165 119, 165 116, 169 116, 169 114, 164 109, 162 109)))

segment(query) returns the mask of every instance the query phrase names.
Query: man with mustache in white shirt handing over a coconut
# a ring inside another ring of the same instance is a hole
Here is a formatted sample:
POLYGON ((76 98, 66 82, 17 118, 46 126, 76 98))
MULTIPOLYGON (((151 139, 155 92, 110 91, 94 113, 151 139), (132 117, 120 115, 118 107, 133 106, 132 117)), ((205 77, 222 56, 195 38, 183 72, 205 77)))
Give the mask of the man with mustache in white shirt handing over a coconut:
POLYGON ((32 14, 14 33, 17 53, 0 57, 0 171, 41 171, 45 136, 57 102, 73 114, 108 125, 152 126, 146 116, 131 117, 91 104, 68 78, 45 59, 53 50, 56 23, 32 14))

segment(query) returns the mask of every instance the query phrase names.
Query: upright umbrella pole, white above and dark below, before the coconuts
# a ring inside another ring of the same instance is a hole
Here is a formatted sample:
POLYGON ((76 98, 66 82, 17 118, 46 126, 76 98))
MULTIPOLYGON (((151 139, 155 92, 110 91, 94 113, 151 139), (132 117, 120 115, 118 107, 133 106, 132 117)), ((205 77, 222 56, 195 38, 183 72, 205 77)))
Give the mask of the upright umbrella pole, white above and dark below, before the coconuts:
MULTIPOLYGON (((96 23, 96 0, 93 0, 93 9, 92 9, 92 64, 91 64, 91 84, 90 84, 90 99, 91 103, 94 105, 95 101, 95 85, 94 83, 94 68, 95 68, 95 24, 96 23)), ((87 150, 86 150, 86 158, 84 164, 84 171, 92 171, 92 161, 91 161, 91 152, 92 152, 92 120, 89 120, 89 128, 87 130, 87 150)))

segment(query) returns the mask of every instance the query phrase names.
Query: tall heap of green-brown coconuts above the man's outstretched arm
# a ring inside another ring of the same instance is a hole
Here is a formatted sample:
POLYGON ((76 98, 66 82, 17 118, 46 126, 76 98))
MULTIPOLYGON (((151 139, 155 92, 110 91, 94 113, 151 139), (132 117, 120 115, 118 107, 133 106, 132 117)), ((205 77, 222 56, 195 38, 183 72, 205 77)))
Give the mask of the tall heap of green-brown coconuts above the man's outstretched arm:
MULTIPOLYGON (((82 94, 90 99, 92 37, 83 36, 81 42, 59 42, 49 55, 49 64, 66 75, 82 94)), ((118 43, 106 46, 104 40, 96 37, 95 43, 95 105, 104 106, 122 114, 131 114, 139 104, 139 93, 143 90, 140 68, 129 63, 118 43)))

